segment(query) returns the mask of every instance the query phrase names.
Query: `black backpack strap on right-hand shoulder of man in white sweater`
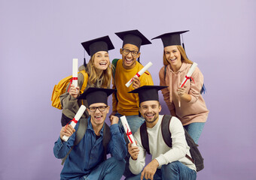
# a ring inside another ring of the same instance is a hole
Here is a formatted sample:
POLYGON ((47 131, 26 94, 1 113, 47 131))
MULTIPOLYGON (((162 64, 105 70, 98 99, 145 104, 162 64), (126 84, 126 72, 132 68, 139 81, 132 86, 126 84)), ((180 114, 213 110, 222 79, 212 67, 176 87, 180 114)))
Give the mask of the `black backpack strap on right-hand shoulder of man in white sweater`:
POLYGON ((172 148, 172 134, 169 131, 169 124, 171 122, 172 115, 163 115, 162 123, 161 123, 161 130, 163 141, 166 142, 170 148, 172 148))

